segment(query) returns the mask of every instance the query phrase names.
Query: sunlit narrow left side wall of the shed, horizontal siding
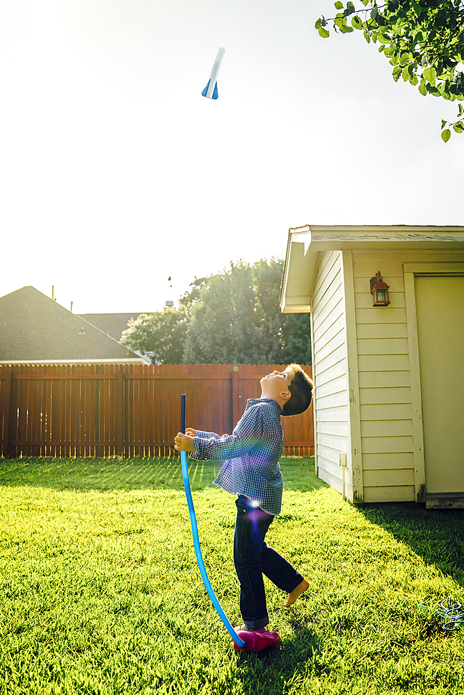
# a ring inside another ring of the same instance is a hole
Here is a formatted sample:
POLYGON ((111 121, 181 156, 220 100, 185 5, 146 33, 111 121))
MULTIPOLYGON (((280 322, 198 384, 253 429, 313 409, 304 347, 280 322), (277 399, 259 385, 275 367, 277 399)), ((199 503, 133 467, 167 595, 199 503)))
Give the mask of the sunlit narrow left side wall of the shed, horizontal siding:
MULTIPOLYGON (((349 453, 344 295, 341 255, 321 254, 312 297, 313 375, 317 466, 322 480, 342 492, 339 453, 349 453)), ((346 496, 351 497, 346 475, 346 496)))

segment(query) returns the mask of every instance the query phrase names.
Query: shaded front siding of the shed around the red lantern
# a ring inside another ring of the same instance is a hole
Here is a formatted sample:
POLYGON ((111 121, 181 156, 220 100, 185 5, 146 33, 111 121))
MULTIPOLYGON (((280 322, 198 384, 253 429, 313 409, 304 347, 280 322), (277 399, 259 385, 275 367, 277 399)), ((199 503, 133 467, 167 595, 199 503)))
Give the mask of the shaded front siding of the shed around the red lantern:
POLYGON ((464 252, 353 252, 365 502, 415 500, 413 427, 403 263, 452 262, 464 252), (391 304, 372 306, 369 279, 381 270, 391 304))

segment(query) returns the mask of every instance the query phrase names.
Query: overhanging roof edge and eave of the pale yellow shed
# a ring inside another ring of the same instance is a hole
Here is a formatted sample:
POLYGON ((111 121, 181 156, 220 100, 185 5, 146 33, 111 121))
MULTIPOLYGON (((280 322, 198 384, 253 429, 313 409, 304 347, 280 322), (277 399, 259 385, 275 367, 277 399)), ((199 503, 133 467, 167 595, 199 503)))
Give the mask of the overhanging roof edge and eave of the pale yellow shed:
POLYGON ((464 227, 305 224, 289 229, 280 286, 282 313, 311 311, 319 252, 349 249, 464 249, 464 227))

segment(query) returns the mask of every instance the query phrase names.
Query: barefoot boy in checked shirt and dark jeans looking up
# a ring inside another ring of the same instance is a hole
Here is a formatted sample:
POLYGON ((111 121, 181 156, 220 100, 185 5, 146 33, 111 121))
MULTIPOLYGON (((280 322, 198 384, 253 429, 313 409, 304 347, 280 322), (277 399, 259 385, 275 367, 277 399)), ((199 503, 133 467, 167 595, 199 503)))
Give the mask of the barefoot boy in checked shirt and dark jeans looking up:
POLYGON ((231 435, 186 430, 175 437, 177 450, 192 459, 226 459, 214 480, 238 495, 234 531, 234 565, 240 582, 243 625, 237 630, 262 630, 269 624, 262 573, 286 591, 286 606, 295 603, 309 583, 264 537, 282 502, 283 432, 280 416, 303 413, 312 400, 312 381, 298 364, 274 370, 261 379, 261 398, 250 398, 231 435))

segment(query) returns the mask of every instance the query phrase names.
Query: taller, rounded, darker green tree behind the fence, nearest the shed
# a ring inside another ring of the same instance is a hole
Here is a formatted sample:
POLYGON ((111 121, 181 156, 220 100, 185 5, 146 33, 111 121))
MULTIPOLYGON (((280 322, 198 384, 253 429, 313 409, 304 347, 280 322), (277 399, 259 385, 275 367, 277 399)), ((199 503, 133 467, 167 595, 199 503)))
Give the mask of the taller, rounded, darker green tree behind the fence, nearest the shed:
POLYGON ((195 280, 181 300, 191 306, 184 361, 310 363, 309 315, 280 313, 282 265, 231 262, 229 270, 195 280))

